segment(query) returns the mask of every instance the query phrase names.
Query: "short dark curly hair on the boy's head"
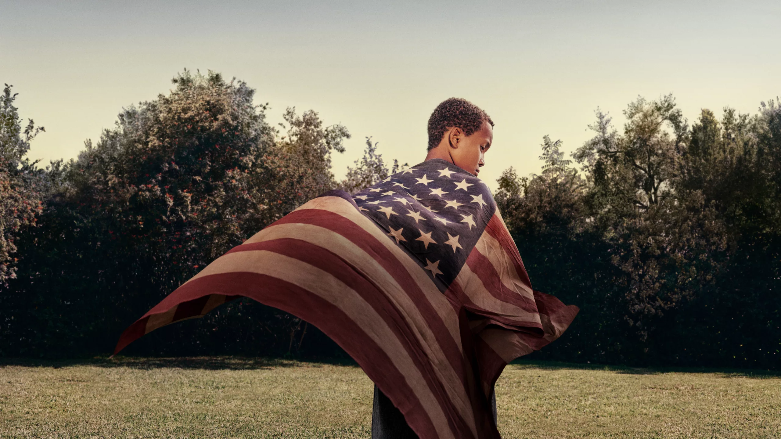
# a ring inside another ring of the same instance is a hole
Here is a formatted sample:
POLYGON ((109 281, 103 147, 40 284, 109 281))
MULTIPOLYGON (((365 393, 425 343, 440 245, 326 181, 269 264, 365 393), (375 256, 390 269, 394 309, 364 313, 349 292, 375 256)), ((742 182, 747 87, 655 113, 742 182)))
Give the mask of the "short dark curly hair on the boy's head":
POLYGON ((450 98, 431 113, 429 118, 429 151, 436 148, 448 128, 458 127, 470 136, 483 127, 483 122, 494 126, 490 116, 477 105, 462 98, 450 98))

